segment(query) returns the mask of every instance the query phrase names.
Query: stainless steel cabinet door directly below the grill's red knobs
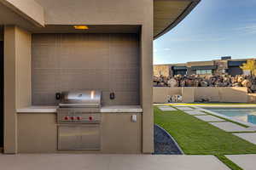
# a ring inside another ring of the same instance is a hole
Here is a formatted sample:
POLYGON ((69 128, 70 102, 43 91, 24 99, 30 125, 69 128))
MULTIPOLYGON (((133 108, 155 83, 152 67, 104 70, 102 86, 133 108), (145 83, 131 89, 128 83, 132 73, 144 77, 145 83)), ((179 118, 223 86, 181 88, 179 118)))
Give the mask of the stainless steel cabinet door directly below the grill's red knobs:
POLYGON ((100 150, 99 124, 61 125, 58 127, 58 150, 100 150))

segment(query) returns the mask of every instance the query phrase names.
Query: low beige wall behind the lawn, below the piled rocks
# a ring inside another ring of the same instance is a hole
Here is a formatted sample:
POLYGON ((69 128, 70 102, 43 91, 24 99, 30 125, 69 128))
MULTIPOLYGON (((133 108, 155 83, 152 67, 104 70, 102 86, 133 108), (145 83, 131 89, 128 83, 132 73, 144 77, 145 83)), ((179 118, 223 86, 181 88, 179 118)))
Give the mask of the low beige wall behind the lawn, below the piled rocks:
POLYGON ((200 102, 237 102, 256 103, 256 94, 247 94, 247 88, 240 87, 154 87, 154 103, 166 103, 167 95, 179 94, 184 103, 200 102))

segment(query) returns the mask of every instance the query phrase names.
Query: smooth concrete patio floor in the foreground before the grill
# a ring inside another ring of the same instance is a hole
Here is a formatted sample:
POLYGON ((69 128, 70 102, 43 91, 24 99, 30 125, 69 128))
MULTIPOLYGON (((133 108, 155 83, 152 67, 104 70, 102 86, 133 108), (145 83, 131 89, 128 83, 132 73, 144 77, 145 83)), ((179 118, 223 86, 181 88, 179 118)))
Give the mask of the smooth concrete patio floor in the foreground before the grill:
POLYGON ((215 156, 0 155, 4 170, 229 170, 215 156))

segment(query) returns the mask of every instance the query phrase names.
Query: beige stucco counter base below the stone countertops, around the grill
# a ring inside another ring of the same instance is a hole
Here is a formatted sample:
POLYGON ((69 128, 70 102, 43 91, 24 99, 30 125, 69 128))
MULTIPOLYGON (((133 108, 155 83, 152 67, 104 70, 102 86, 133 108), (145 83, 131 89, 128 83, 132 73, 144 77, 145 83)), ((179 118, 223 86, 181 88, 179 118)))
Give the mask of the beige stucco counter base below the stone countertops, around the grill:
MULTIPOLYGON (((142 153, 141 113, 102 113, 102 150, 83 153, 142 153), (137 122, 131 116, 137 115, 137 122)), ((55 113, 18 114, 18 153, 54 153, 57 150, 55 113), (38 121, 40 120, 40 121, 38 121)), ((74 151, 69 151, 69 153, 74 151)))

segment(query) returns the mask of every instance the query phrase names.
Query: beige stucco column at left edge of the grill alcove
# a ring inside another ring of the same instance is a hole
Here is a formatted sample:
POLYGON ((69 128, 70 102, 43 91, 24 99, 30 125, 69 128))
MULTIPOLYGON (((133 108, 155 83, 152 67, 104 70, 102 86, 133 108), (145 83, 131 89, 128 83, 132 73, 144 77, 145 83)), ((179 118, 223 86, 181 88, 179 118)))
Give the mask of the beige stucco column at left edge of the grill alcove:
POLYGON ((4 26, 4 136, 3 151, 17 152, 15 26, 4 26))

